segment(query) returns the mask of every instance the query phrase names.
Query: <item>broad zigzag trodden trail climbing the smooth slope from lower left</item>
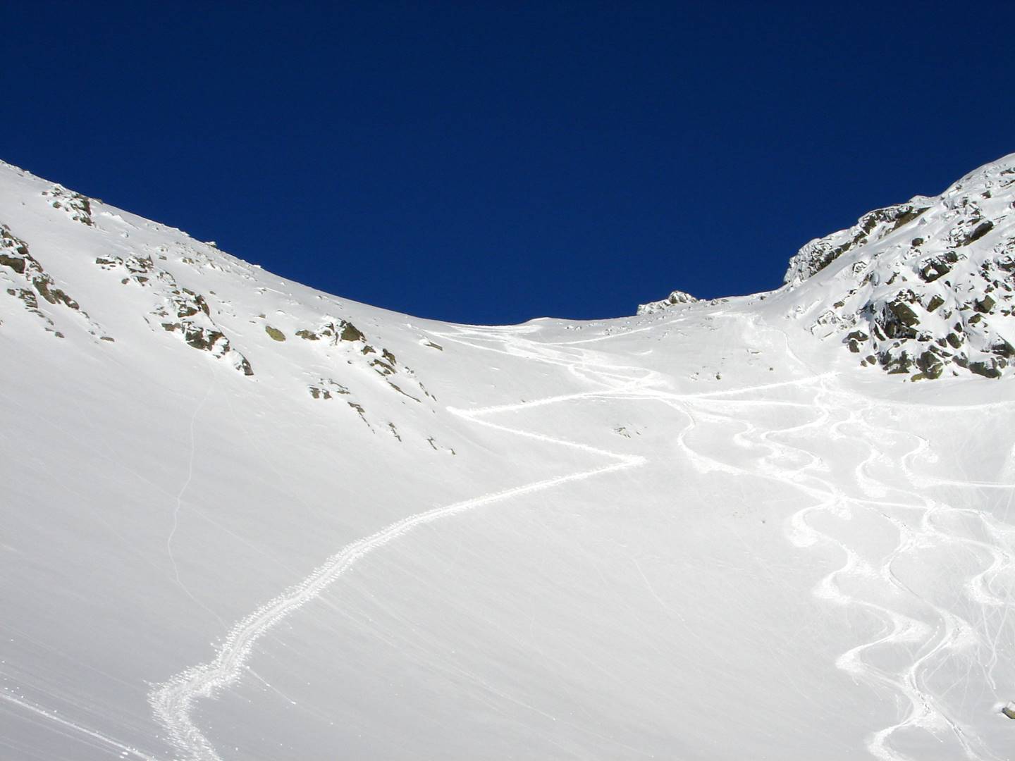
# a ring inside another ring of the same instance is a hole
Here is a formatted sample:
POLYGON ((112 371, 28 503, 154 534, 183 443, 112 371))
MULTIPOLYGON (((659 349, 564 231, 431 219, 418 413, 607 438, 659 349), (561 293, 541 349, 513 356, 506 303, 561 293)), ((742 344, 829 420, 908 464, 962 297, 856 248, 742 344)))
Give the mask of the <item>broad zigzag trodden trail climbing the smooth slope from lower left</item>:
MULTIPOLYGON (((466 331, 462 331, 464 334, 466 331)), ((506 333, 506 332, 505 332, 506 333)), ((438 334, 446 340, 466 343, 467 341, 450 335, 438 334)), ((506 342, 516 339, 516 335, 506 333, 506 342)), ((471 346, 471 344, 468 344, 471 346)), ((484 347, 486 348, 486 347, 484 347)), ((554 398, 553 401, 570 401, 588 397, 602 397, 604 392, 610 390, 610 380, 620 376, 611 375, 609 371, 596 372, 591 370, 588 361, 566 362, 559 361, 556 357, 547 358, 538 350, 521 347, 515 344, 515 352, 502 351, 502 353, 515 354, 516 356, 526 356, 539 361, 549 361, 554 364, 567 364, 572 369, 576 364, 581 364, 584 369, 599 374, 606 378, 603 384, 604 391, 592 391, 585 394, 568 395, 563 398, 554 398)), ((580 350, 581 351, 581 350, 580 350)), ((582 359, 586 359, 591 352, 582 351, 582 359)), ((595 363, 592 363, 595 364, 595 363)), ((600 365, 607 367, 607 370, 631 369, 646 373, 640 378, 623 379, 623 388, 614 391, 626 391, 628 388, 638 386, 648 380, 656 373, 634 367, 618 367, 600 365)), ((185 671, 172 677, 168 681, 156 685, 148 695, 152 711, 156 720, 165 729, 170 742, 192 761, 222 761, 211 742, 205 737, 201 730, 194 723, 191 713, 194 702, 198 698, 214 698, 222 690, 238 682, 243 675, 244 667, 250 659, 254 644, 268 631, 278 625, 283 619, 294 613, 296 610, 319 597, 333 581, 348 571, 356 562, 370 554, 375 550, 381 549, 392 541, 405 536, 414 529, 425 524, 431 524, 452 515, 475 509, 483 505, 504 499, 518 497, 524 494, 543 491, 561 484, 572 481, 581 481, 594 476, 605 475, 615 471, 638 467, 646 463, 646 459, 640 456, 624 455, 600 449, 588 444, 568 441, 562 438, 547 436, 542 433, 510 428, 507 426, 478 420, 477 417, 487 414, 494 414, 501 411, 523 409, 533 405, 547 404, 544 400, 522 403, 521 405, 509 405, 506 407, 490 407, 477 410, 464 411, 449 408, 449 411, 477 424, 503 430, 517 435, 526 436, 547 443, 568 446, 580 449, 599 457, 608 457, 616 461, 611 465, 601 466, 588 470, 570 473, 563 476, 543 479, 523 486, 504 489, 491 494, 485 494, 472 499, 455 502, 443 507, 435 507, 425 512, 409 515, 397 521, 384 529, 359 539, 343 547, 339 552, 332 555, 322 565, 318 566, 309 576, 298 583, 290 586, 281 595, 269 600, 256 611, 239 621, 232 626, 222 643, 217 647, 214 658, 211 661, 190 667, 185 671)))

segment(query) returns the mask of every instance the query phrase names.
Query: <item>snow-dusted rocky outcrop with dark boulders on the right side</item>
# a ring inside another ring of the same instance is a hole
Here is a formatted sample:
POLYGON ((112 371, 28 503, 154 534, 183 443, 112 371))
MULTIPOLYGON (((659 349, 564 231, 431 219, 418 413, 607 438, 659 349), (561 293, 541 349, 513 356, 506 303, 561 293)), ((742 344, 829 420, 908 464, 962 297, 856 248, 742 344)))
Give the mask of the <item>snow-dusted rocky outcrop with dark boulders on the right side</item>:
POLYGON ((786 282, 802 319, 863 365, 915 380, 1015 361, 1015 154, 812 240, 786 282))

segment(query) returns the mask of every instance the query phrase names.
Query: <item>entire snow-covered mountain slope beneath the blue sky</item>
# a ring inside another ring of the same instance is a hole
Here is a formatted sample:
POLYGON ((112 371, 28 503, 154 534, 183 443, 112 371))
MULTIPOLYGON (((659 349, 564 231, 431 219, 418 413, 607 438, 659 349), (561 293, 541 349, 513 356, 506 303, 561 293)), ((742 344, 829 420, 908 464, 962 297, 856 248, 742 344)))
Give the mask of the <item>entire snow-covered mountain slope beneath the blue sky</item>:
POLYGON ((986 291, 942 198, 951 277, 477 327, 0 167, 0 757, 1011 757, 1015 396, 842 343, 986 291))

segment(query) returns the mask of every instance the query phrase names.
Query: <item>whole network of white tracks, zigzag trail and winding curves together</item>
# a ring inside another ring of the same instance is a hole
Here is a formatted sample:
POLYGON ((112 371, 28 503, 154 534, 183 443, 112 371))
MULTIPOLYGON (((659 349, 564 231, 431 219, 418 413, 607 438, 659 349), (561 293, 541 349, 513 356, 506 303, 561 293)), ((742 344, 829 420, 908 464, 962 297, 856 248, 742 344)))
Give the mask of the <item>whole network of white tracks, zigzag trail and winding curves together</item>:
MULTIPOLYGON (((749 320, 752 327, 753 320, 749 320)), ((821 578, 814 587, 814 595, 830 604, 855 606, 870 612, 886 624, 884 633, 874 639, 863 642, 843 652, 835 662, 835 666, 872 687, 882 687, 892 694, 900 696, 908 703, 908 712, 896 722, 872 734, 867 741, 870 754, 882 761, 911 761, 891 747, 892 736, 900 730, 910 728, 925 730, 935 737, 938 733, 949 734, 957 742, 962 754, 968 759, 982 761, 1000 761, 989 749, 980 747, 974 739, 966 736, 957 721, 951 718, 947 711, 939 705, 939 701, 931 694, 924 684, 924 675, 935 664, 953 653, 972 646, 985 646, 985 637, 977 633, 976 627, 959 616, 947 611, 934 602, 927 600, 907 586, 894 572, 894 562, 905 553, 926 546, 928 543, 963 544, 971 550, 986 555, 988 564, 979 573, 965 584, 965 593, 969 600, 985 608, 1003 608, 1001 624, 993 638, 987 642, 991 655, 986 669, 993 670, 997 665, 998 639, 1007 621, 1011 603, 1007 598, 1001 598, 991 590, 991 579, 1010 571, 1013 567, 1013 552, 1011 537, 1015 529, 998 524, 992 516, 970 508, 952 508, 947 505, 932 502, 922 497, 916 490, 905 491, 910 501, 891 501, 886 499, 890 491, 898 491, 897 486, 888 486, 869 474, 869 469, 877 461, 889 465, 900 465, 902 472, 915 483, 918 477, 913 474, 910 463, 918 457, 926 457, 928 442, 919 439, 904 457, 896 464, 888 455, 879 448, 878 442, 884 434, 890 434, 887 428, 879 429, 872 425, 863 415, 853 410, 833 408, 828 402, 827 382, 834 373, 826 372, 809 375, 789 382, 779 382, 756 387, 733 389, 725 391, 704 392, 697 394, 676 394, 667 392, 660 386, 668 385, 666 376, 645 367, 616 365, 605 363, 603 358, 591 350, 579 348, 578 344, 588 344, 609 339, 606 335, 599 338, 583 339, 559 344, 541 344, 524 338, 527 333, 537 329, 525 327, 512 328, 472 328, 459 327, 455 333, 435 333, 434 335, 452 343, 460 343, 472 349, 481 349, 504 353, 513 356, 546 362, 565 367, 579 379, 585 383, 597 384, 601 388, 588 392, 546 397, 517 404, 503 404, 491 407, 481 407, 471 410, 449 408, 449 411, 472 423, 503 431, 518 436, 539 440, 545 443, 566 446, 587 453, 597 458, 607 458, 613 462, 553 478, 543 479, 522 486, 504 489, 498 492, 481 495, 450 505, 435 507, 424 512, 409 515, 390 526, 357 540, 338 553, 332 555, 311 575, 297 584, 289 587, 278 597, 261 606, 254 613, 236 623, 228 632, 226 638, 217 647, 212 660, 191 667, 167 682, 156 686, 149 699, 156 719, 167 732, 172 744, 192 761, 221 761, 215 748, 195 724, 192 712, 195 701, 199 698, 214 698, 222 690, 233 685, 244 674, 246 664, 250 659, 254 644, 264 634, 284 618, 312 602, 321 595, 336 579, 346 573, 359 560, 379 550, 391 542, 405 536, 424 524, 430 524, 456 515, 467 510, 476 509, 502 500, 523 496, 546 489, 555 488, 566 483, 607 475, 621 470, 644 465, 645 458, 624 455, 589 444, 549 436, 543 433, 513 428, 501 423, 484 419, 490 415, 527 410, 539 406, 559 404, 564 402, 624 398, 642 399, 665 404, 679 410, 688 417, 689 425, 685 426, 677 436, 678 446, 687 456, 689 462, 698 470, 725 471, 734 475, 752 475, 773 479, 802 491, 816 501, 795 514, 787 522, 787 534, 792 543, 798 547, 809 547, 819 543, 830 544, 837 548, 845 557, 844 563, 821 578), (751 392, 759 392, 785 386, 817 385, 814 405, 801 405, 795 402, 776 400, 757 400, 745 397, 751 392), (736 419, 730 415, 709 411, 709 407, 730 404, 756 405, 789 405, 807 406, 817 411, 817 416, 803 424, 782 429, 760 430, 753 423, 736 419), (838 419, 830 425, 830 435, 833 438, 853 438, 869 454, 855 469, 856 485, 864 492, 863 497, 850 496, 839 488, 830 477, 827 466, 820 457, 800 446, 787 443, 781 438, 801 431, 823 430, 829 422, 840 413, 847 413, 844 419, 838 419), (687 434, 695 427, 707 421, 738 423, 741 429, 733 435, 733 439, 742 447, 761 447, 767 451, 756 461, 753 469, 725 463, 703 453, 696 452, 688 442, 687 434), (849 426, 860 428, 860 433, 843 432, 849 426), (795 463, 788 467, 785 463, 795 463), (912 501, 915 500, 915 501, 912 501), (891 524, 898 533, 897 545, 881 560, 879 567, 873 567, 848 542, 841 541, 832 533, 815 529, 809 517, 827 513, 840 518, 849 518, 854 509, 872 511, 882 520, 891 524), (899 516, 898 512, 906 515, 899 516), (995 543, 979 541, 968 537, 949 534, 939 528, 934 517, 941 512, 969 514, 978 521, 987 536, 995 543), (915 523, 910 513, 919 515, 915 523), (840 579, 860 580, 874 584, 874 589, 884 592, 890 589, 893 594, 906 598, 910 603, 923 606, 936 620, 934 626, 918 620, 912 616, 893 610, 887 605, 864 599, 842 590, 840 579), (911 663, 901 671, 888 672, 869 664, 865 653, 878 648, 894 647, 896 649, 916 648, 917 655, 911 663)), ((801 367, 806 364, 793 352, 789 339, 783 331, 786 348, 791 357, 796 359, 801 367)), ((613 334, 624 335, 624 334, 613 334)), ((836 390, 840 392, 841 390, 836 390)), ((865 401, 869 402, 870 400, 865 401)), ((922 478, 922 477, 921 477, 922 478)), ((926 482, 928 479, 924 478, 926 482)), ((950 481, 931 479, 933 483, 975 488, 1015 488, 1013 485, 1000 483, 979 483, 973 481, 950 481)), ((987 628, 985 616, 984 628, 987 628)), ((989 637, 988 637, 989 639, 989 637)), ((993 676, 988 674, 989 681, 995 686, 993 676)), ((939 742, 940 741, 940 738, 939 742)))

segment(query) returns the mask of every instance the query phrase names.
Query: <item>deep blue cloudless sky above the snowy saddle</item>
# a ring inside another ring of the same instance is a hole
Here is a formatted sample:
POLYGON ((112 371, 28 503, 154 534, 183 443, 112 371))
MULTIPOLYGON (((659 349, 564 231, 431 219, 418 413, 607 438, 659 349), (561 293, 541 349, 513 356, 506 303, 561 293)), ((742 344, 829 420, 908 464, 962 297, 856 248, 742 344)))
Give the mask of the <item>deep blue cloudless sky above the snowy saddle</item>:
POLYGON ((513 323, 775 287, 1015 151, 1011 3, 254 5, 6 4, 0 157, 348 298, 513 323))

